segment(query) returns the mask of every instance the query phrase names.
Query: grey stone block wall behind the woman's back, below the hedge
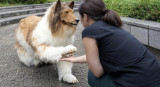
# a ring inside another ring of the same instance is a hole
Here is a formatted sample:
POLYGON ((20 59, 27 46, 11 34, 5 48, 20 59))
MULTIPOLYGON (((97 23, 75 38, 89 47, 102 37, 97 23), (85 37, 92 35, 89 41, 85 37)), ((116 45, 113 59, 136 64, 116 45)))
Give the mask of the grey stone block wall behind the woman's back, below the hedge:
POLYGON ((141 43, 160 50, 160 23, 121 17, 123 29, 134 35, 141 43))

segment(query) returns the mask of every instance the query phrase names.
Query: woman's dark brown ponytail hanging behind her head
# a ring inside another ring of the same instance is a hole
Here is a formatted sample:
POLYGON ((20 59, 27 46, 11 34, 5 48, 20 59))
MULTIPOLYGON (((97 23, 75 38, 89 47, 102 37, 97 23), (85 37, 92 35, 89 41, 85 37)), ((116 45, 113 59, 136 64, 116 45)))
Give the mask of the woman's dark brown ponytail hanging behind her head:
POLYGON ((105 10, 105 15, 102 18, 102 20, 116 27, 122 26, 122 21, 120 16, 118 16, 117 12, 113 10, 105 10))

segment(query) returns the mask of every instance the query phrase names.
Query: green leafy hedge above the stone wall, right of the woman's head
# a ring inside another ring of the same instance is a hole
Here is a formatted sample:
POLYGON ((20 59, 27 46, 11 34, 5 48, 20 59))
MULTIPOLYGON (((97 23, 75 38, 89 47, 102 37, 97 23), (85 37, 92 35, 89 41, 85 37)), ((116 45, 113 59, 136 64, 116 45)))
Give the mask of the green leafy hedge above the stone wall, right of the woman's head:
POLYGON ((160 0, 104 0, 106 7, 127 16, 160 22, 160 0))

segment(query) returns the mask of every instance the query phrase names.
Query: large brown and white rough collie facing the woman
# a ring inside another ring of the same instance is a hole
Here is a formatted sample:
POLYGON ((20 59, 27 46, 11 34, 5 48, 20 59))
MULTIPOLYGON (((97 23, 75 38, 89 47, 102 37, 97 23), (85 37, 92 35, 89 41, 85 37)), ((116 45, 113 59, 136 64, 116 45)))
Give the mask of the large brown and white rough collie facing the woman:
POLYGON ((16 30, 16 49, 21 62, 27 66, 38 66, 57 61, 59 80, 77 83, 72 75, 72 63, 58 61, 71 56, 77 48, 71 44, 78 19, 73 11, 74 2, 58 0, 48 8, 43 17, 29 16, 20 20, 16 30))

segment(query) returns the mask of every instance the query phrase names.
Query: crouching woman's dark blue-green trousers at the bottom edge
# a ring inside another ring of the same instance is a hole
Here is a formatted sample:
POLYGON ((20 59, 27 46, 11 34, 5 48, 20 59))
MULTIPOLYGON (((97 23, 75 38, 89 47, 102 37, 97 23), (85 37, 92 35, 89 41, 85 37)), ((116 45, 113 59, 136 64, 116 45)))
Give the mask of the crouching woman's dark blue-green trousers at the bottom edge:
POLYGON ((109 75, 105 74, 101 78, 96 78, 90 70, 88 71, 88 84, 90 87, 115 87, 109 75))

